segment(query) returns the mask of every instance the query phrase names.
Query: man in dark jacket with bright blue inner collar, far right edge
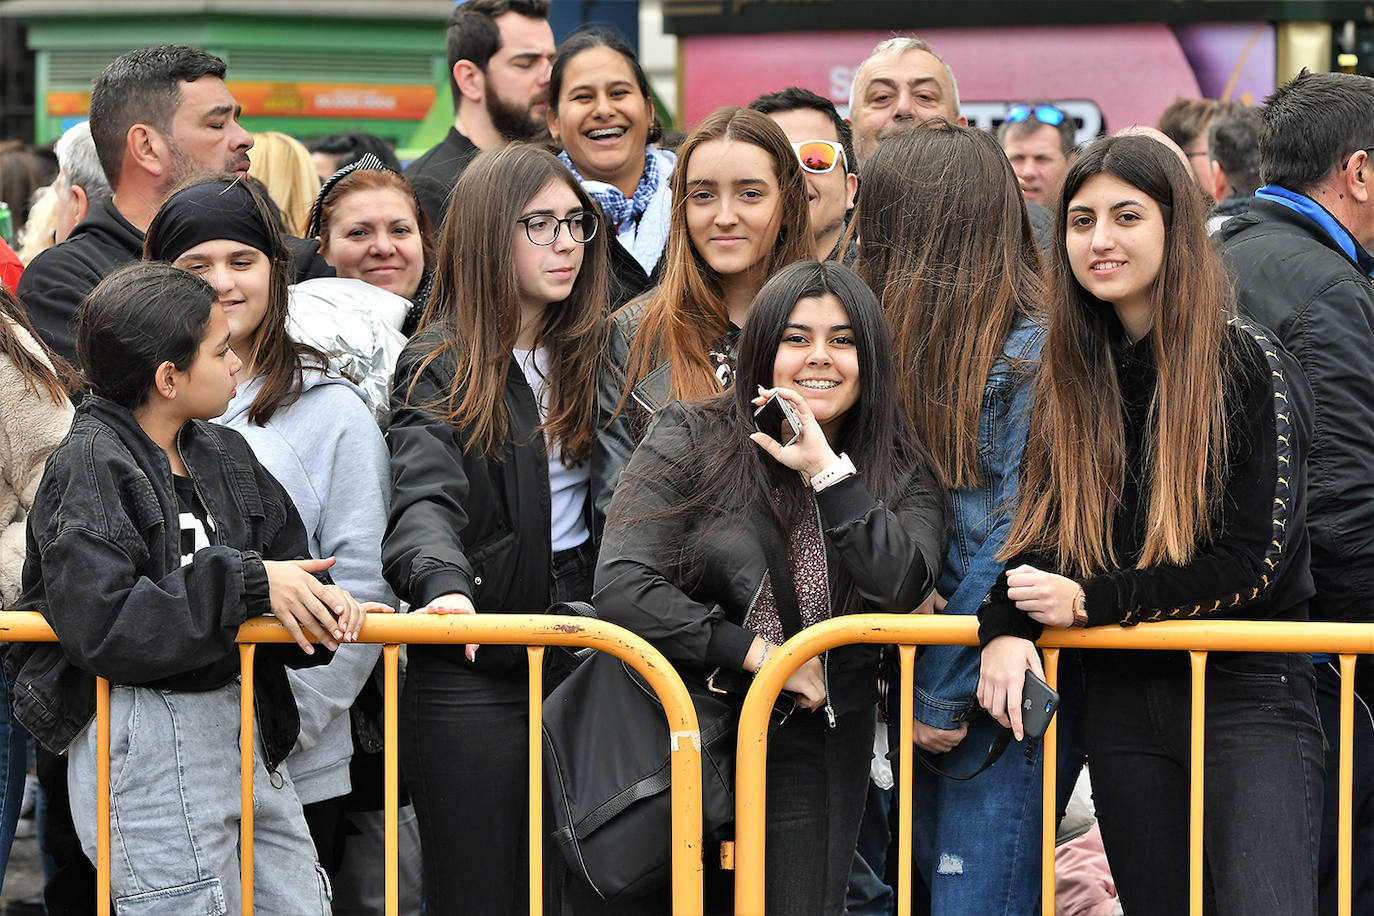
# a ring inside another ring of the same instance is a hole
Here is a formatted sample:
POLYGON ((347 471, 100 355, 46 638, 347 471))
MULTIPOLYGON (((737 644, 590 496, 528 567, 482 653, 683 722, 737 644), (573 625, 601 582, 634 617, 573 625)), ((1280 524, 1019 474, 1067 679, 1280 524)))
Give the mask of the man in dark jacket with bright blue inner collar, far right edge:
MULTIPOLYGON (((1297 357, 1315 398, 1308 460, 1314 621, 1374 622, 1374 80, 1303 71, 1261 110, 1250 210, 1220 229, 1241 309, 1297 357)), ((1338 698, 1330 655, 1316 662, 1327 781, 1320 912, 1336 912, 1338 698)), ((1374 677, 1356 674, 1355 912, 1374 912, 1374 677)))

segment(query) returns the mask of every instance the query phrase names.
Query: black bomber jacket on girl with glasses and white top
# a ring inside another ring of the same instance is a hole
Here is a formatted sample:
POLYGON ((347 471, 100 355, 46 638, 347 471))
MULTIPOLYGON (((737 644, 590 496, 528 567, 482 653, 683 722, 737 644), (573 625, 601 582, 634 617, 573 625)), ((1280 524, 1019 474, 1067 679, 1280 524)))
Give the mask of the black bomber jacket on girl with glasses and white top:
MULTIPOLYGON (((449 390, 453 360, 416 369, 433 349, 438 330, 416 335, 401 352, 392 386, 392 511, 382 538, 382 573, 411 607, 459 592, 478 611, 541 614, 550 604, 548 453, 537 433, 539 405, 525 374, 510 358, 504 402, 508 417, 504 456, 488 461, 469 452, 466 434, 422 405, 449 390), (411 382, 415 379, 415 390, 411 382)), ((610 503, 610 486, 598 452, 591 457, 588 530, 595 540, 610 503)), ((411 658, 441 652, 467 665, 459 647, 414 647, 411 658)), ((488 645, 475 667, 504 670, 525 650, 488 645)))

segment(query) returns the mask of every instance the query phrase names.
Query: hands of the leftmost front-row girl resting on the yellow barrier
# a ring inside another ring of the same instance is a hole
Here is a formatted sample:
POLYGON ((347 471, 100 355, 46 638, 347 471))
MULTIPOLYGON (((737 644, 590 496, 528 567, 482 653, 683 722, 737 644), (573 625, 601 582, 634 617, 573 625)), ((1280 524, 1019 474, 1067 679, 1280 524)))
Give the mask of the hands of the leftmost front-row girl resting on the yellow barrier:
POLYGON ((312 575, 334 566, 334 558, 309 560, 262 560, 267 570, 272 614, 306 655, 315 654, 311 643, 323 643, 334 651, 341 641, 352 643, 368 610, 390 610, 385 604, 359 604, 338 585, 326 585, 312 575))

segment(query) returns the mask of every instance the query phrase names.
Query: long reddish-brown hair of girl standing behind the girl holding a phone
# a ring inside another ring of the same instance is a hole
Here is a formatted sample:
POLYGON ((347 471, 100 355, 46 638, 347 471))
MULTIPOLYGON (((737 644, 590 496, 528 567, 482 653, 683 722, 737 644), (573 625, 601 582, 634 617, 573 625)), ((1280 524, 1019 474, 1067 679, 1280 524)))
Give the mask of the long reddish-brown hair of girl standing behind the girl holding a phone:
POLYGON ((710 345, 730 330, 720 275, 691 243, 687 229, 687 168, 708 140, 739 140, 761 148, 774 161, 780 213, 778 239, 767 255, 763 282, 794 261, 811 258, 811 213, 801 163, 772 118, 749 108, 727 107, 708 115, 677 148, 673 169, 673 213, 664 250, 664 279, 653 293, 629 347, 625 398, 635 385, 668 361, 672 398, 690 401, 720 390, 710 365, 710 345))

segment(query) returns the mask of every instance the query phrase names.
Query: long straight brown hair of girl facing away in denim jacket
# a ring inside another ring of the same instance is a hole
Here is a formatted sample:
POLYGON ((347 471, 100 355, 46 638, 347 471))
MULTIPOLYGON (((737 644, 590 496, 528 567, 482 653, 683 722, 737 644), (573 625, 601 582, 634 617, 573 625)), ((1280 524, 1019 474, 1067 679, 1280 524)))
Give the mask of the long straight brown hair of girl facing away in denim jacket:
POLYGON ((945 486, 978 486, 988 376, 1043 297, 1015 173, 992 135, 937 119, 878 144, 857 214, 859 275, 892 328, 907 420, 945 486))

